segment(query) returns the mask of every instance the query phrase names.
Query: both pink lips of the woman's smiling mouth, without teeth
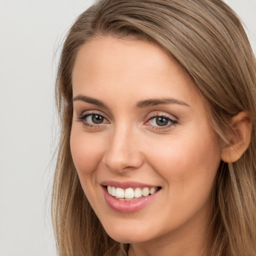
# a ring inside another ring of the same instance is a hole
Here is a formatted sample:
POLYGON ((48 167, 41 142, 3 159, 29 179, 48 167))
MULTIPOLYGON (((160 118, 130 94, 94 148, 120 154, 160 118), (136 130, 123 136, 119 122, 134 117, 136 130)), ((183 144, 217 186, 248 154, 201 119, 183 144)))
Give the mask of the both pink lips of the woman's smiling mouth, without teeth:
POLYGON ((150 194, 145 197, 132 199, 129 201, 123 201, 118 200, 115 197, 113 197, 111 194, 109 194, 105 188, 106 185, 120 187, 120 188, 128 188, 128 187, 153 187, 153 185, 145 184, 145 183, 139 183, 139 182, 118 182, 118 181, 103 181, 101 182, 101 187, 103 190, 104 198, 107 203, 107 205, 114 211, 122 212, 122 213, 132 213, 136 212, 146 205, 148 205, 151 201, 154 200, 154 198, 157 196, 158 191, 154 192, 153 194, 150 194))

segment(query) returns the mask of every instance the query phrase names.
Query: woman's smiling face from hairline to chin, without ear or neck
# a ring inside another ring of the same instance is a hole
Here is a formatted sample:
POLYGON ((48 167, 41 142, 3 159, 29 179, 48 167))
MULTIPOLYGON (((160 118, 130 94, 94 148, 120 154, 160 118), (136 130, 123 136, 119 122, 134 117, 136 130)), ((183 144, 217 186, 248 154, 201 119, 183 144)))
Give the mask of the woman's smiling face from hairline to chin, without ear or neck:
POLYGON ((106 232, 202 235, 220 146, 181 66, 152 43, 102 37, 79 49, 72 83, 72 158, 106 232))

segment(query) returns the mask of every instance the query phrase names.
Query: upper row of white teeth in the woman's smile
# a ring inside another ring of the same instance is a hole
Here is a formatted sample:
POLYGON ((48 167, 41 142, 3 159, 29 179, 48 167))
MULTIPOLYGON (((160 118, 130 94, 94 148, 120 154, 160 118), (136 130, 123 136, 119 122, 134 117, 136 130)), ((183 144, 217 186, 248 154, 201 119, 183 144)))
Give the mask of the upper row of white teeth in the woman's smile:
POLYGON ((143 187, 142 189, 140 187, 136 188, 126 188, 122 189, 120 187, 114 187, 114 186, 107 186, 107 191, 112 196, 115 196, 116 198, 126 198, 126 199, 132 199, 132 198, 139 198, 142 195, 147 196, 149 194, 153 194, 157 190, 157 187, 143 187))

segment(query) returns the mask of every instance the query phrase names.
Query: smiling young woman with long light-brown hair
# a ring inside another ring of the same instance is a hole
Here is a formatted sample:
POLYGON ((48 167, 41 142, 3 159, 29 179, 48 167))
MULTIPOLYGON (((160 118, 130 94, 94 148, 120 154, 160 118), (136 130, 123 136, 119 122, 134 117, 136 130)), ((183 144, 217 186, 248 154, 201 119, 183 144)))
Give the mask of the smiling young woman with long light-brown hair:
POLYGON ((65 39, 59 255, 256 255, 256 65, 220 0, 103 0, 65 39))

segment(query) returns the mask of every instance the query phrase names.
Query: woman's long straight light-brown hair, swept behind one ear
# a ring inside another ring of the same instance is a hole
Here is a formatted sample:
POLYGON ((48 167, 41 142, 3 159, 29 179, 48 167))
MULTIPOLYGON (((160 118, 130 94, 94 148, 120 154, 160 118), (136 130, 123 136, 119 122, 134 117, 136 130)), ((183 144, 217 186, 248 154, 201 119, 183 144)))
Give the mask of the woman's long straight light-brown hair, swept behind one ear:
POLYGON ((100 0, 71 26, 60 56, 56 103, 61 123, 52 194, 58 254, 126 255, 90 207, 71 158, 72 69, 76 53, 97 36, 148 40, 176 58, 193 79, 223 144, 230 117, 248 111, 251 141, 234 163, 221 162, 208 231, 211 256, 256 255, 256 63, 241 22, 222 0, 100 0))

